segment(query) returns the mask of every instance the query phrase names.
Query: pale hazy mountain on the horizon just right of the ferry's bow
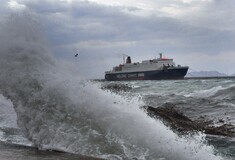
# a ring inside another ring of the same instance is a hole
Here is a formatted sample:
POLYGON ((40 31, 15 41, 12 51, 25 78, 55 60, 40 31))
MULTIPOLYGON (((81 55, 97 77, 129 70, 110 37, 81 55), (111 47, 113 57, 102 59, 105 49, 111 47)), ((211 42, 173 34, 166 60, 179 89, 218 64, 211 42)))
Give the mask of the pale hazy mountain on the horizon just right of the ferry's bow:
POLYGON ((223 77, 228 76, 225 73, 218 71, 199 71, 199 72, 188 72, 186 77, 223 77))

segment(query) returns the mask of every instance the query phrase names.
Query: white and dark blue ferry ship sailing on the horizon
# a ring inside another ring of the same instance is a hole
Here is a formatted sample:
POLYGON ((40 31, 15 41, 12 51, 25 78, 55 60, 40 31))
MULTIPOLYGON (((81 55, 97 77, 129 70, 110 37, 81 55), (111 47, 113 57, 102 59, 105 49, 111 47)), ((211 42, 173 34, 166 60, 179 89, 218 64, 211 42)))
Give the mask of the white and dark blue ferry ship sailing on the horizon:
POLYGON ((173 59, 159 58, 132 63, 130 56, 124 57, 124 63, 105 72, 105 80, 176 80, 183 79, 188 66, 175 65, 173 59), (126 58, 126 61, 125 61, 126 58))

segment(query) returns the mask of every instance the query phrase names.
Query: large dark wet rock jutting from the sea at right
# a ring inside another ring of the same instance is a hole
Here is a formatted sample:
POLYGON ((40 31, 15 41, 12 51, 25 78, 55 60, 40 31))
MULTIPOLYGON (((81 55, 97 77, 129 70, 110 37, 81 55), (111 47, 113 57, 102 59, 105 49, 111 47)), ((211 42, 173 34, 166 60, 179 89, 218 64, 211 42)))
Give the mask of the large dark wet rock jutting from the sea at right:
POLYGON ((201 131, 211 135, 235 137, 234 125, 214 126, 213 121, 207 120, 205 117, 192 120, 180 112, 173 104, 165 104, 158 108, 151 106, 144 106, 143 108, 150 117, 162 120, 163 123, 179 134, 201 131))

